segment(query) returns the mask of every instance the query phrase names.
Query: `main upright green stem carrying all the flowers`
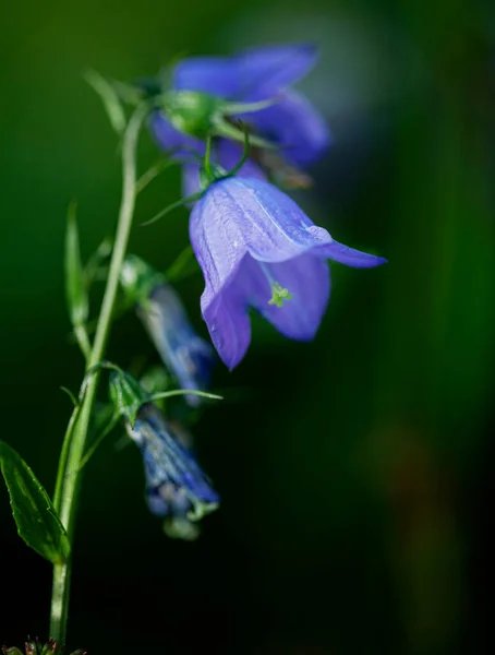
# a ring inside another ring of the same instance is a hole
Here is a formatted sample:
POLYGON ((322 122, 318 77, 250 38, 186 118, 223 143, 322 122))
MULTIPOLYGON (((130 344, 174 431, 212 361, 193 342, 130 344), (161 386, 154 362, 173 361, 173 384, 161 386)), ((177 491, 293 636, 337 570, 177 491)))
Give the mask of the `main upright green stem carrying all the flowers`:
MULTIPOLYGON (((137 140, 147 110, 148 109, 145 106, 141 106, 135 110, 123 136, 122 200, 119 211, 116 241, 108 272, 107 286, 101 302, 101 310, 96 327, 95 341, 86 361, 86 369, 90 369, 104 358, 105 347, 110 333, 120 270, 125 257, 134 214, 137 140)), ((98 378, 98 372, 95 372, 95 374, 90 377, 79 413, 77 422, 73 429, 68 429, 65 433, 64 444, 62 446, 63 456, 60 458, 59 471, 57 474, 56 508, 62 524, 65 526, 71 546, 74 540, 77 499, 81 491, 80 464, 85 451, 98 378)), ((56 639, 59 644, 65 642, 71 569, 72 556, 69 557, 67 562, 53 567, 50 635, 56 639)))

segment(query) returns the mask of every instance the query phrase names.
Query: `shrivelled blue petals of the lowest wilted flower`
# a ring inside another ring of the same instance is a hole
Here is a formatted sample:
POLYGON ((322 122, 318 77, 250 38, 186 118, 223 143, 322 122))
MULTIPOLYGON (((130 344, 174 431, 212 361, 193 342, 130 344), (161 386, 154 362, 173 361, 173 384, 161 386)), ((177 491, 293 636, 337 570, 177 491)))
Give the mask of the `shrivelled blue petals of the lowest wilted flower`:
POLYGON ((197 521, 217 509, 217 492, 157 407, 144 405, 133 428, 126 421, 126 430, 143 455, 146 501, 153 514, 197 521))

